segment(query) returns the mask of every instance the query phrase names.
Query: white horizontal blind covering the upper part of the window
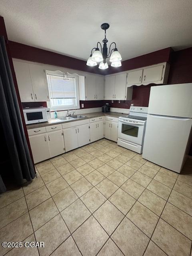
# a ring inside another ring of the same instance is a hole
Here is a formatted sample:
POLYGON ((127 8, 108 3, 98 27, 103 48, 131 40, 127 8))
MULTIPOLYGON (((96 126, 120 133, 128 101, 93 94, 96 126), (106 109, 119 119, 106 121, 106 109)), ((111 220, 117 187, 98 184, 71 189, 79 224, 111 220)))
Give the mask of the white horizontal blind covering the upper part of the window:
POLYGON ((47 78, 51 99, 76 98, 74 77, 47 74, 47 78))

